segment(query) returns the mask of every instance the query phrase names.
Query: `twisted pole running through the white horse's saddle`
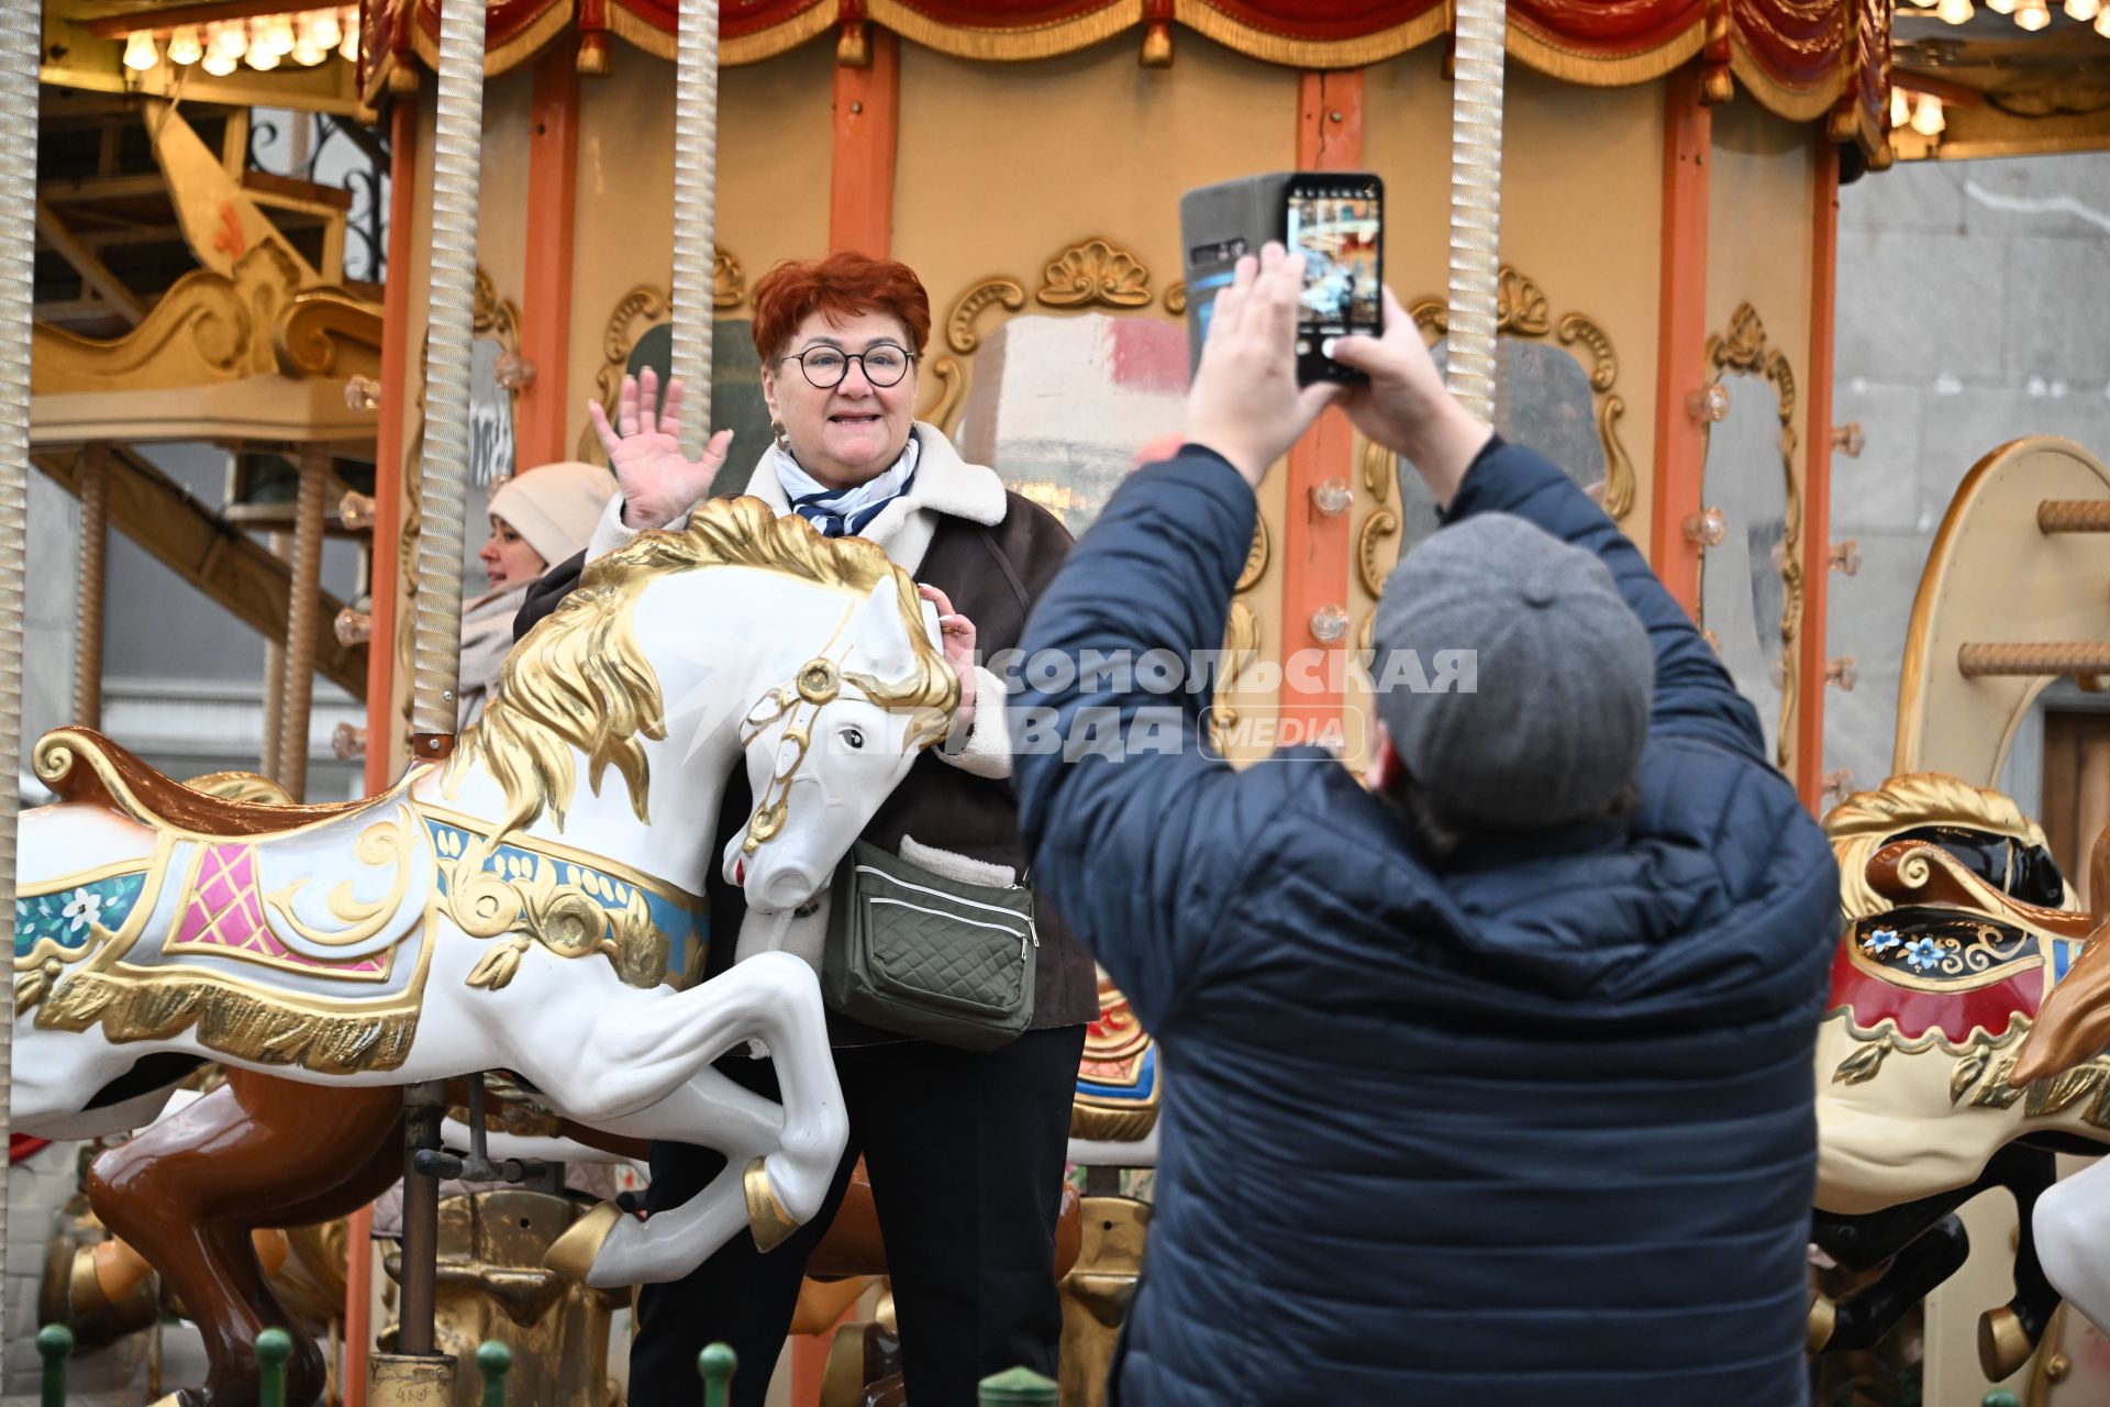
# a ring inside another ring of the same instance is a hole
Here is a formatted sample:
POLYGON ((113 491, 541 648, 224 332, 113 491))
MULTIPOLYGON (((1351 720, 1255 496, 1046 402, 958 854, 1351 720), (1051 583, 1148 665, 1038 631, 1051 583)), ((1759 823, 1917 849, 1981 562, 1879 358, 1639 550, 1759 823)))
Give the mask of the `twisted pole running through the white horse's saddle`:
MULTIPOLYGON (((454 747, 462 656, 462 519, 468 489, 468 367, 477 297, 477 175, 483 150, 483 0, 439 6, 439 105, 433 122, 433 285, 426 304, 424 458, 418 468, 411 759, 454 747)), ((306 475, 304 475, 306 477, 306 475)), ((281 757, 281 762, 285 762, 281 757)), ((367 1358, 378 1407, 447 1401, 454 1358, 435 1350, 439 1181, 416 1167, 437 1148, 443 1086, 407 1093, 403 1152, 403 1299, 397 1352, 367 1358)))

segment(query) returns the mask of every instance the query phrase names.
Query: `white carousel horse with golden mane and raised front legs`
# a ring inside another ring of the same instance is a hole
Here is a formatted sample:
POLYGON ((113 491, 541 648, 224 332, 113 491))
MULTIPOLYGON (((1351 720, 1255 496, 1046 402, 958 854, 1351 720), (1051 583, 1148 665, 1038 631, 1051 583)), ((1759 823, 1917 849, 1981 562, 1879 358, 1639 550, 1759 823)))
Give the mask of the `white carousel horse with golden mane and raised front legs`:
POLYGON ((696 837, 745 755, 760 802, 724 873, 760 913, 808 903, 943 736, 958 681, 933 639, 878 546, 736 500, 589 567, 454 755, 380 797, 213 802, 49 734, 63 802, 21 823, 13 1126, 135 1129, 194 1059, 346 1086, 502 1067, 580 1124, 728 1154, 650 1230, 603 1209, 574 1247, 593 1285, 686 1274, 743 1226, 774 1245, 848 1129, 804 962, 663 985, 701 926, 696 837), (781 1107, 711 1069, 751 1038, 781 1107))

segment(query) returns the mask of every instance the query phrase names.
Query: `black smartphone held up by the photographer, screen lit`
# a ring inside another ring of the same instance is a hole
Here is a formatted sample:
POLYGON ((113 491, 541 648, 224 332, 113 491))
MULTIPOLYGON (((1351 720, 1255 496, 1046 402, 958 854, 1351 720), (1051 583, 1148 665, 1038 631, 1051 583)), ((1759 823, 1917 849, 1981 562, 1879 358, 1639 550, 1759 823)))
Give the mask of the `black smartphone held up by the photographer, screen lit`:
POLYGON ((1325 354, 1348 333, 1384 331, 1384 181, 1300 171, 1283 190, 1283 245, 1304 255, 1298 295, 1298 384, 1363 382, 1325 354))

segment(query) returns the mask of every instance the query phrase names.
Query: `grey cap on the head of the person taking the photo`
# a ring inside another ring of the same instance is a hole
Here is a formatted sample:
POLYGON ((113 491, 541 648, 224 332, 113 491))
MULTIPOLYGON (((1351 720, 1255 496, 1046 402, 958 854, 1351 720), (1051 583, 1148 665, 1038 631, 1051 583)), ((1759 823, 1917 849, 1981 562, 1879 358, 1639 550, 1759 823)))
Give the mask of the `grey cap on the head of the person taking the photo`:
POLYGON ((1608 808, 1648 740, 1654 650, 1593 553, 1481 513, 1407 553, 1372 627, 1378 717, 1460 827, 1608 808))

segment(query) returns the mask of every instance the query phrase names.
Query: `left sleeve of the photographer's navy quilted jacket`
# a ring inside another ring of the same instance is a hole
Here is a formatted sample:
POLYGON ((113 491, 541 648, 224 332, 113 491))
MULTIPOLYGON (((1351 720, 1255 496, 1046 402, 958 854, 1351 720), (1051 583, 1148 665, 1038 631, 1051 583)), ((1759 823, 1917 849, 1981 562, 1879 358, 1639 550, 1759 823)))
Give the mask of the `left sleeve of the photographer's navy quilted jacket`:
POLYGON ((1281 785, 1281 768, 1205 755, 1211 679, 1192 669, 1222 648, 1255 517, 1207 449, 1131 475, 1034 608, 1011 700, 1038 882, 1156 1032, 1222 956, 1220 913, 1281 785), (1165 656, 1182 660, 1171 686, 1165 656))

